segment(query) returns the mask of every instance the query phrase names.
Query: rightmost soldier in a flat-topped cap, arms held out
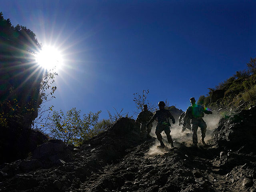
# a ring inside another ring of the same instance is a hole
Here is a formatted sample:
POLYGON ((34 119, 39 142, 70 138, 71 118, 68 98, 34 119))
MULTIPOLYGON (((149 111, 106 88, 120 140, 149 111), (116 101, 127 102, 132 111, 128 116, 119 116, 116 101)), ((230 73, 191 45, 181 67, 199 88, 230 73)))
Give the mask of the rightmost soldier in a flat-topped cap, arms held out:
POLYGON ((190 98, 190 102, 192 106, 189 106, 185 112, 184 118, 191 118, 191 130, 193 132, 193 144, 194 147, 197 148, 198 140, 197 140, 197 130, 198 126, 201 128, 201 142, 203 145, 206 145, 204 142, 205 133, 206 133, 206 122, 202 119, 205 114, 212 114, 211 111, 208 111, 206 108, 203 108, 201 105, 196 104, 196 100, 194 97, 190 98))

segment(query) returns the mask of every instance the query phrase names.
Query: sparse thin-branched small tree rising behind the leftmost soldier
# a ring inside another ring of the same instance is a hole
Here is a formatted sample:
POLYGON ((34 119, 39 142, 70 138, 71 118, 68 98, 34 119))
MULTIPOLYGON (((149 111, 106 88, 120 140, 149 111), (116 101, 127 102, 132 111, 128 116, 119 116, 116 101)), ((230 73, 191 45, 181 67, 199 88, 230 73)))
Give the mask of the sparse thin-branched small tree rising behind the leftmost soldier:
POLYGON ((140 111, 143 110, 143 106, 145 104, 148 105, 149 111, 154 111, 156 109, 156 104, 152 104, 149 100, 147 100, 148 94, 149 94, 149 90, 143 90, 142 94, 138 92, 133 94, 134 95, 133 101, 135 102, 135 106, 136 106, 136 111, 134 112, 134 114, 139 114, 140 111))

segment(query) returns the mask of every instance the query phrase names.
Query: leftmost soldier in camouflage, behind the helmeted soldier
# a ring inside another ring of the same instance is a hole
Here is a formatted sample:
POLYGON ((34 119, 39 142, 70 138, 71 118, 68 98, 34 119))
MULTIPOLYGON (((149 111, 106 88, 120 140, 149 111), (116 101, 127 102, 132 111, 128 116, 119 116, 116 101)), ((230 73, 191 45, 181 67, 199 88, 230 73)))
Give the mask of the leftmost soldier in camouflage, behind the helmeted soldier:
POLYGON ((148 127, 146 125, 147 125, 147 122, 149 122, 149 120, 152 118, 153 115, 154 114, 148 110, 147 105, 144 105, 143 111, 138 114, 138 117, 135 122, 140 123, 140 137, 142 139, 146 138, 146 136, 148 138, 150 138, 149 134, 150 134, 150 131, 152 128, 152 123, 149 124, 148 127))

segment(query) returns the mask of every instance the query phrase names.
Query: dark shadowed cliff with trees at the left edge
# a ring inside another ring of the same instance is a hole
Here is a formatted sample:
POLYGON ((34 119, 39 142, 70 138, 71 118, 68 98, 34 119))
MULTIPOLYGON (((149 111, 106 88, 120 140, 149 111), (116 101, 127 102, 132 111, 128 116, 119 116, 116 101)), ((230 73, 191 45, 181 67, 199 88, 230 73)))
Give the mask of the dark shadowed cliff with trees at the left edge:
POLYGON ((24 26, 12 26, 0 12, 0 164, 25 158, 42 144, 42 134, 30 130, 43 76, 31 54, 40 49, 35 36, 24 26))

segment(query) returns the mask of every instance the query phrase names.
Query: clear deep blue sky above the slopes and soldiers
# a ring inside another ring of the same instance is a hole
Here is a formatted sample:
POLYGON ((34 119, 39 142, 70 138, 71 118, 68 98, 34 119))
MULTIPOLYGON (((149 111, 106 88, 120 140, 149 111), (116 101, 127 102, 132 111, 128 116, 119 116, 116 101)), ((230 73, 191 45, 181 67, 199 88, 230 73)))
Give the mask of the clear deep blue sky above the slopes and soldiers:
POLYGON ((256 1, 2 0, 12 24, 62 51, 55 110, 135 110, 133 93, 182 110, 256 57, 256 1))

